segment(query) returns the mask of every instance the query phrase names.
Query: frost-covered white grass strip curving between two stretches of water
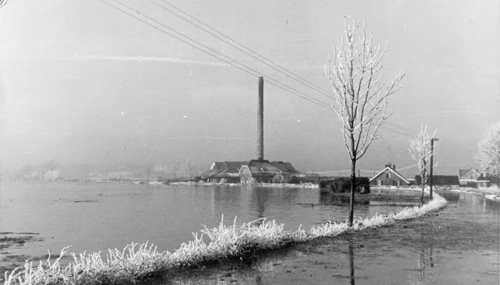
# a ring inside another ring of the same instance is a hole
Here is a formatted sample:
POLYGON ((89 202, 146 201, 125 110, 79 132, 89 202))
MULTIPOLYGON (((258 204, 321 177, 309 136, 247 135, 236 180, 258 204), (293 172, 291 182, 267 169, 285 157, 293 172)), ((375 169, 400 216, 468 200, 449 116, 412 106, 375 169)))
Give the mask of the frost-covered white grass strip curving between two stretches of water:
POLYGON ((194 233, 194 240, 181 244, 173 253, 157 251, 157 248, 148 242, 132 243, 122 250, 109 249, 105 259, 100 252, 71 254, 73 262, 61 265, 59 261, 63 256, 67 256, 65 248, 55 260, 49 256, 38 265, 27 262, 22 268, 6 272, 4 284, 134 284, 168 272, 215 263, 221 259, 248 256, 292 243, 334 237, 341 233, 415 219, 445 205, 446 200, 436 193, 433 200, 421 207, 407 207, 401 212, 359 219, 352 228, 347 222, 329 222, 313 226, 309 231, 301 227, 297 231, 285 231, 284 224, 276 224, 276 221, 266 219, 236 226, 235 218, 231 226, 225 226, 222 217, 220 226, 205 227, 200 233, 194 233))

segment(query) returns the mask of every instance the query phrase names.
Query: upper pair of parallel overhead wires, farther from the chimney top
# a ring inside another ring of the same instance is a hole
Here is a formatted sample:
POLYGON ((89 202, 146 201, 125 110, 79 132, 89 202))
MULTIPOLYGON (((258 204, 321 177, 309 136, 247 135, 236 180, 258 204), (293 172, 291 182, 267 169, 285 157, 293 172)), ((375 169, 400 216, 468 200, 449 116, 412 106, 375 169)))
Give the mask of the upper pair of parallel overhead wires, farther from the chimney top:
POLYGON ((331 94, 327 90, 323 89, 322 87, 319 87, 319 86, 315 85, 314 83, 301 78, 299 75, 293 73, 292 71, 289 71, 286 68, 283 68, 282 66, 280 66, 279 64, 276 64, 276 62, 271 61, 271 59, 267 59, 266 57, 262 56, 262 54, 259 54, 258 52, 255 52, 254 50, 251 50, 250 48, 245 47, 245 45, 242 45, 241 43, 238 43, 233 38, 230 38, 229 36, 226 36, 225 34, 222 34, 220 31, 217 31, 217 29, 215 29, 213 27, 210 27, 210 25, 208 25, 208 24, 206 24, 204 22, 201 22, 200 20, 198 20, 197 18, 193 17, 192 15, 189 15, 188 13, 185 13, 185 11, 181 10, 180 8, 177 8, 176 6, 173 6, 168 1, 166 1, 166 0, 160 0, 160 1, 164 2, 164 3, 166 3, 166 5, 168 5, 168 6, 172 7, 172 8, 174 8, 174 9, 178 10, 180 13, 183 13, 187 17, 190 17, 192 20, 198 22, 199 24, 201 24, 201 25, 203 25, 205 27, 208 27, 208 29, 210 29, 212 31, 215 31, 215 33, 219 34, 220 36, 217 36, 216 34, 213 34, 211 31, 208 31, 207 29, 204 29, 203 27, 200 27, 198 24, 196 24, 196 23, 194 23, 194 22, 192 22, 190 20, 187 20, 185 17, 179 15, 178 13, 174 12, 173 10, 171 10, 169 8, 166 8, 165 6, 162 6, 161 4, 159 4, 159 3, 157 3, 157 2, 155 2, 153 0, 149 0, 149 1, 152 2, 152 3, 155 3, 155 5, 163 8, 164 10, 169 11, 173 15, 176 15, 177 17, 180 17, 180 19, 185 20, 186 22, 189 22, 194 27, 197 27, 198 29, 201 29, 202 31, 205 31, 207 34, 210 34, 210 35, 214 36, 215 38, 219 39, 220 41, 223 41, 224 43, 227 43, 228 45, 231 45, 231 47, 234 47, 237 50, 239 50, 239 51, 241 51, 241 52, 249 55, 250 57, 253 57, 254 59, 257 59, 258 61, 262 62, 263 64, 266 64, 266 66, 269 66, 269 67, 273 68, 274 70, 287 75, 288 77, 292 78, 293 80, 295 80, 297 82, 300 82, 303 85, 306 85, 307 87, 309 87, 310 89, 315 90, 316 92, 320 92, 324 96, 327 96, 329 98, 333 98, 331 96, 331 94), (232 43, 226 41, 224 38, 227 38, 227 40, 231 41, 232 43), (236 45, 234 45, 233 43, 235 43, 236 45), (244 50, 242 50, 242 48, 244 50), (245 51, 245 50, 248 50, 248 52, 245 51), (259 57, 261 57, 265 61, 263 61, 262 59, 259 59, 259 57), (268 61, 271 64, 267 63, 266 61, 268 61))

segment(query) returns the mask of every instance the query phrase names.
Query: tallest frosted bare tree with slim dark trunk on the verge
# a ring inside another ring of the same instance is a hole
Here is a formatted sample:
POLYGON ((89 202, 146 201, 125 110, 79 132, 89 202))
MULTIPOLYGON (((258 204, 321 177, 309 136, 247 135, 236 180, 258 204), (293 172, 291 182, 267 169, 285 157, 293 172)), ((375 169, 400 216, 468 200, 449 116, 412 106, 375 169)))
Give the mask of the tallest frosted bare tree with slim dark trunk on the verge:
POLYGON ((390 95, 401 89, 404 73, 390 82, 383 80, 380 72, 387 52, 372 43, 372 34, 366 34, 366 22, 345 20, 341 44, 334 47, 328 57, 325 71, 334 92, 332 105, 338 120, 346 149, 351 161, 351 197, 349 224, 354 217, 354 192, 356 185, 356 161, 366 154, 373 140, 380 138, 378 129, 390 118, 387 102, 390 95), (356 32, 362 24, 361 35, 356 32))

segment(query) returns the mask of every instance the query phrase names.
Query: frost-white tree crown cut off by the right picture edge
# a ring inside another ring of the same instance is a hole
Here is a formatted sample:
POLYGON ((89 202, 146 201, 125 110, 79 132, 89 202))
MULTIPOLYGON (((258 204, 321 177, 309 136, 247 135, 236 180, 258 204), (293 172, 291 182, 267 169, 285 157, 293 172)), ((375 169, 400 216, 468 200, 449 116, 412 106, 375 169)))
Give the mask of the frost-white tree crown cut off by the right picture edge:
POLYGON ((486 129, 485 137, 478 142, 478 149, 480 165, 500 177, 500 122, 486 129))

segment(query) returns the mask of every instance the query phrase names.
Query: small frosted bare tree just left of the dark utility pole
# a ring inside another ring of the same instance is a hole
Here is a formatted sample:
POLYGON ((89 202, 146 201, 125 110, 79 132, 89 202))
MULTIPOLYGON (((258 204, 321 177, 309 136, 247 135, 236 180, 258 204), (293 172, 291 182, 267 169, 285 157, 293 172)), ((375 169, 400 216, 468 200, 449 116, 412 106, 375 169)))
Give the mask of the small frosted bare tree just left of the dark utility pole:
MULTIPOLYGON (((433 133, 427 132, 427 126, 420 126, 420 132, 417 134, 417 138, 410 140, 410 147, 408 151, 411 157, 417 163, 418 170, 420 171, 420 177, 422 179, 422 197, 420 198, 420 203, 424 203, 424 189, 427 183, 427 166, 431 161, 431 139, 436 136, 436 131, 433 133)), ((438 141, 434 143, 434 154, 438 148, 438 141)))

